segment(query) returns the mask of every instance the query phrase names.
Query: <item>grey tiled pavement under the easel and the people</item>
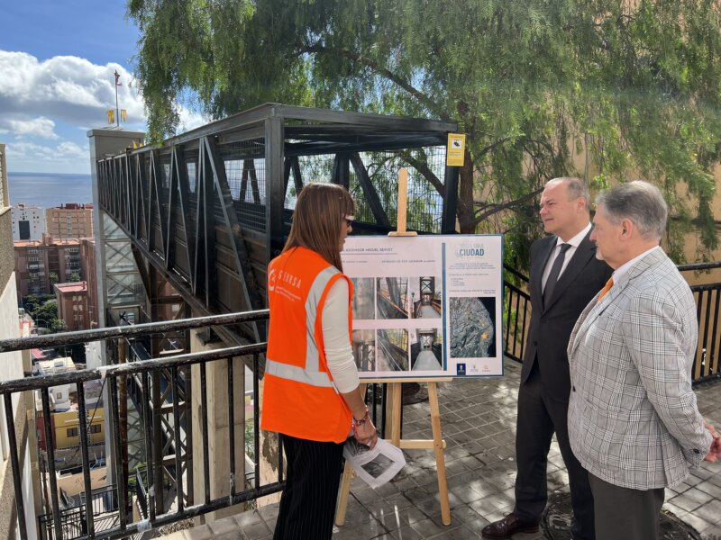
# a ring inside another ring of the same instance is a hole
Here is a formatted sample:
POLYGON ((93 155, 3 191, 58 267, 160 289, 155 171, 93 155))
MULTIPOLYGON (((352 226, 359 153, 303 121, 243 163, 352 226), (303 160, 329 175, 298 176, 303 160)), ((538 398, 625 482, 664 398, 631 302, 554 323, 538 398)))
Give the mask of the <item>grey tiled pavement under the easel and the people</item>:
MULTIPOLYGON (((450 526, 443 526, 435 460, 431 451, 406 451, 407 465, 393 482, 376 491, 354 479, 344 527, 337 540, 479 538, 488 522, 509 512, 514 502, 516 393, 520 365, 507 361, 506 376, 465 379, 439 385, 450 526)), ((698 388, 698 406, 721 427, 721 384, 698 388)), ((404 408, 404 437, 431 438, 428 403, 404 408)), ((721 540, 721 463, 704 463, 687 482, 666 493, 670 510, 701 534, 721 540)), ((567 491, 568 476, 555 442, 548 464, 550 491, 567 491)), ((278 505, 244 512, 174 533, 172 540, 256 540, 272 537, 278 505)), ((543 531, 514 540, 540 540, 543 531)), ((621 540, 621 539, 619 539, 621 540)))

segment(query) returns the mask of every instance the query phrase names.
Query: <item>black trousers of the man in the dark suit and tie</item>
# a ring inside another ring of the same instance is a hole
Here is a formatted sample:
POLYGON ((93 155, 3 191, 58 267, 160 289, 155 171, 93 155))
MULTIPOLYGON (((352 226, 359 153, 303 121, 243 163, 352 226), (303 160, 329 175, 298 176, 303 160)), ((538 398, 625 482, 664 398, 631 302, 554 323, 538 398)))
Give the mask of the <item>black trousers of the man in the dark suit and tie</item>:
POLYGON ((563 463, 569 474, 573 507, 574 540, 594 540, 593 494, 589 474, 570 450, 568 397, 558 399, 543 392, 537 361, 518 391, 516 421, 516 508, 514 514, 538 522, 548 501, 547 465, 551 438, 556 434, 563 463))

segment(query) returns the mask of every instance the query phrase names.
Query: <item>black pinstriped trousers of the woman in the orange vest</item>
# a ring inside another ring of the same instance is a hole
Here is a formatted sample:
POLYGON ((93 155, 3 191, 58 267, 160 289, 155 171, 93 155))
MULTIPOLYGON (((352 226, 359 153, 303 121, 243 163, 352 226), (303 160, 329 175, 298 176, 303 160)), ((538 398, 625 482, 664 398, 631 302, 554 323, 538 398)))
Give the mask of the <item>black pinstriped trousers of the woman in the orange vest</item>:
POLYGON ((341 482, 343 446, 280 437, 286 450, 287 476, 273 539, 329 540, 341 482))

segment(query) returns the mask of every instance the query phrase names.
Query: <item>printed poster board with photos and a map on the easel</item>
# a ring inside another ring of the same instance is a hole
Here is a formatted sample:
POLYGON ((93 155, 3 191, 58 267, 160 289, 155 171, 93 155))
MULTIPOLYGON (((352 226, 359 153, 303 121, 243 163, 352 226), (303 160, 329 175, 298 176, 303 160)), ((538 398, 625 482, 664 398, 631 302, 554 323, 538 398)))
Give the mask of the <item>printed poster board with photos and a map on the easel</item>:
POLYGON ((503 237, 348 237, 361 379, 503 375, 503 237))

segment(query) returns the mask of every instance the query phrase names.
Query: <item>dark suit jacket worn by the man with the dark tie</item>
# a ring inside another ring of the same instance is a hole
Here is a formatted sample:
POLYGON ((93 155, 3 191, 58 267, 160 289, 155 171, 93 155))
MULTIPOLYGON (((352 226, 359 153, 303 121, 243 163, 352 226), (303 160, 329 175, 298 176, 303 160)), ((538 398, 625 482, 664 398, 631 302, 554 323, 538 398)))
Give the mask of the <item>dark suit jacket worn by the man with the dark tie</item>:
POLYGON ((543 269, 551 257, 557 237, 536 240, 531 246, 531 324, 525 347, 521 383, 525 383, 534 363, 541 372, 543 391, 558 401, 569 401, 570 375, 566 347, 570 331, 581 311, 606 284, 613 270, 596 258, 596 244, 590 233, 583 238, 553 290, 547 306, 543 305, 543 269))

